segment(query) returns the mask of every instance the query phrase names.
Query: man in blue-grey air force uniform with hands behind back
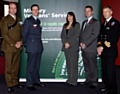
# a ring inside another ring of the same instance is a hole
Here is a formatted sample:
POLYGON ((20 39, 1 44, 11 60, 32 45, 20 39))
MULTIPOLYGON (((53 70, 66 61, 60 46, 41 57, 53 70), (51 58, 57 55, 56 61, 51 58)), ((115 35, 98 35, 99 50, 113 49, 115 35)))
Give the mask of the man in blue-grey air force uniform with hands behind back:
POLYGON ((26 79, 27 88, 31 91, 36 90, 33 85, 44 86, 40 83, 39 69, 43 44, 41 40, 42 28, 38 19, 39 6, 31 6, 32 15, 25 19, 22 31, 22 37, 27 52, 26 79))

